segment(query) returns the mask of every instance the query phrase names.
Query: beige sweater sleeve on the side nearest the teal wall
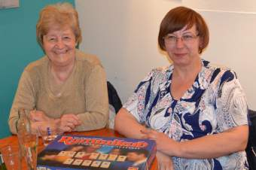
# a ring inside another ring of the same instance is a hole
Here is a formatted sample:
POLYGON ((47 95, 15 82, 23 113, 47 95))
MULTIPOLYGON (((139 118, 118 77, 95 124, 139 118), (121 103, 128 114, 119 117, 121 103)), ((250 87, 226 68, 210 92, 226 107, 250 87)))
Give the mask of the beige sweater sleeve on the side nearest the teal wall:
POLYGON ((17 92, 14 96, 14 102, 11 107, 9 115, 9 128, 12 133, 16 134, 16 123, 19 118, 18 110, 24 108, 26 110, 32 110, 35 106, 35 87, 32 83, 32 79, 29 76, 28 71, 23 71, 20 77, 20 81, 17 87, 17 92))

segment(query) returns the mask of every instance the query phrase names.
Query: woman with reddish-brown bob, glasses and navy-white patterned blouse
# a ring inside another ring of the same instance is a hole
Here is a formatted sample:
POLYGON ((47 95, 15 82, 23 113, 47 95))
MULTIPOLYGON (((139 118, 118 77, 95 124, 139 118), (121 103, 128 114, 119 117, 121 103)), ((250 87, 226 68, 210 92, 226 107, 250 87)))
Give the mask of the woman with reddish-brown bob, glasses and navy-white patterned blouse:
POLYGON ((158 43, 172 60, 152 70, 115 118, 130 138, 157 143, 159 169, 245 169, 245 94, 230 68, 200 59, 209 43, 203 17, 190 8, 169 11, 158 43))

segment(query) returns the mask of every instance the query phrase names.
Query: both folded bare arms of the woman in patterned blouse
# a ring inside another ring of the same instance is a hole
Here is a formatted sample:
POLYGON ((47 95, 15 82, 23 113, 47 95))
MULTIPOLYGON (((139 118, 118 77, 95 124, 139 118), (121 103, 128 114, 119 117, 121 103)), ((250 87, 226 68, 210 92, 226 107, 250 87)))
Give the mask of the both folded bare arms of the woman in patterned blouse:
POLYGON ((114 128, 128 138, 150 138, 157 142, 157 150, 169 156, 206 159, 245 150, 248 126, 237 126, 215 135, 206 135, 190 141, 174 141, 163 132, 147 129, 132 114, 121 108, 115 117, 114 128))

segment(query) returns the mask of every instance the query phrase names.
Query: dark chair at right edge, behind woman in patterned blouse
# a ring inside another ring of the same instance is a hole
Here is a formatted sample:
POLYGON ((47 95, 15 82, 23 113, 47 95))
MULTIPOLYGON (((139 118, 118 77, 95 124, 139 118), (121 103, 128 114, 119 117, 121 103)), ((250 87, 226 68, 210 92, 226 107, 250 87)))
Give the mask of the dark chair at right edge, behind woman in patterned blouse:
POLYGON ((256 111, 248 110, 249 137, 245 149, 249 170, 256 170, 256 111))

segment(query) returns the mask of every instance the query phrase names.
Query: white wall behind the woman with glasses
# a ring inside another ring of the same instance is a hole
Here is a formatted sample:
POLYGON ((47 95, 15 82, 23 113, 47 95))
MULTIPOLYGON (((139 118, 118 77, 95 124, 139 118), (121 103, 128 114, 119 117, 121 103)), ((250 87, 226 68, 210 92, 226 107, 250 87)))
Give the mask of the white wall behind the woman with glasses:
POLYGON ((76 0, 83 32, 81 50, 99 56, 108 80, 125 102, 151 68, 169 65, 157 47, 164 15, 179 5, 194 8, 206 19, 211 33, 202 57, 233 68, 245 89, 249 107, 256 110, 256 14, 252 13, 256 2, 247 0, 249 5, 246 1, 238 5, 241 1, 228 0, 226 4, 219 2, 218 9, 216 1, 76 0), (230 6, 232 2, 235 5, 230 6))

